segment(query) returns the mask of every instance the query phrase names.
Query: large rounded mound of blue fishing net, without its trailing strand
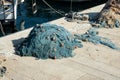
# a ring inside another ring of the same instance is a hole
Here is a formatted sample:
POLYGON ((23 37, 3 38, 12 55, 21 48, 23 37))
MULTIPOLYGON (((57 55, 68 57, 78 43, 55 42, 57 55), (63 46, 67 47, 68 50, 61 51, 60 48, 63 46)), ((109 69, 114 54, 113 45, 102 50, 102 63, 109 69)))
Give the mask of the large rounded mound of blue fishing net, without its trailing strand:
POLYGON ((41 59, 72 57, 81 41, 61 26, 54 24, 36 25, 28 38, 18 46, 17 54, 41 59))

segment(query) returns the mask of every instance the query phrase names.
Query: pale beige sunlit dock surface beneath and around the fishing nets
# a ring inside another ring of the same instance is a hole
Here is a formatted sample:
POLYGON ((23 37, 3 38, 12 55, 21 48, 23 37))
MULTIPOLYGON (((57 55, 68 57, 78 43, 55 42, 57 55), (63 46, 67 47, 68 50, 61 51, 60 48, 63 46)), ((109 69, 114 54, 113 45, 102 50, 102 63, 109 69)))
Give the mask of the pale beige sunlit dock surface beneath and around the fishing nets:
MULTIPOLYGON (((100 5, 81 13, 99 12, 100 5)), ((52 21, 71 33, 85 33, 89 23, 67 22, 64 18, 52 21)), ((0 53, 7 57, 7 72, 3 80, 120 80, 120 51, 104 45, 84 42, 83 48, 74 50, 72 58, 37 60, 34 57, 14 55, 14 45, 19 44, 31 29, 0 38, 0 53), (11 55, 11 56, 10 56, 11 55)), ((120 28, 99 29, 99 35, 120 46, 120 28)))

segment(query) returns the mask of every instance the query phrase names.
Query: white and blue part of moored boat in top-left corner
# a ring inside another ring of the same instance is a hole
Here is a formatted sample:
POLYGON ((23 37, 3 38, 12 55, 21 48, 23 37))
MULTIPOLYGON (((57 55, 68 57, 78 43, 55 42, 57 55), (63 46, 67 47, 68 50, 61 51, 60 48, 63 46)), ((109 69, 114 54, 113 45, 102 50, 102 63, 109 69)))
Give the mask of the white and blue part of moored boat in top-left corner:
POLYGON ((0 1, 0 21, 14 21, 17 18, 17 0, 0 1))

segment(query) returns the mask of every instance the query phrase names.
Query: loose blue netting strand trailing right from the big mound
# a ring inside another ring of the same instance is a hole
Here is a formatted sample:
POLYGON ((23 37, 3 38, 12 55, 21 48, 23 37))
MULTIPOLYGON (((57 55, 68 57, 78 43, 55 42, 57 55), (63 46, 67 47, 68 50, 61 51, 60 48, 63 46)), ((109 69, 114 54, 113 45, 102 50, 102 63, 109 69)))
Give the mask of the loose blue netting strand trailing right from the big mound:
POLYGON ((92 42, 94 44, 103 44, 112 49, 120 50, 118 46, 116 46, 110 39, 98 36, 98 31, 96 28, 90 28, 85 34, 76 34, 77 39, 82 41, 92 42))

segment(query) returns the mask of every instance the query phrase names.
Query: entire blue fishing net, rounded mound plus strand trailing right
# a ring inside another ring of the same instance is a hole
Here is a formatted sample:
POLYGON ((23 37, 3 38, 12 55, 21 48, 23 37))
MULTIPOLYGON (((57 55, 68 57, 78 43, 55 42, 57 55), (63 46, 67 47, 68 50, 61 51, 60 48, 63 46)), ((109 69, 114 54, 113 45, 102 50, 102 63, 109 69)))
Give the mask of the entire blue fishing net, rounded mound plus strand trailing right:
POLYGON ((33 28, 28 38, 18 46, 16 54, 41 59, 72 57, 74 55, 72 51, 82 47, 81 41, 103 44, 120 50, 110 39, 98 36, 96 28, 90 28, 82 35, 72 35, 61 26, 45 23, 33 28))

